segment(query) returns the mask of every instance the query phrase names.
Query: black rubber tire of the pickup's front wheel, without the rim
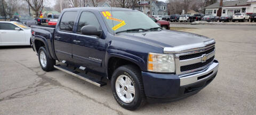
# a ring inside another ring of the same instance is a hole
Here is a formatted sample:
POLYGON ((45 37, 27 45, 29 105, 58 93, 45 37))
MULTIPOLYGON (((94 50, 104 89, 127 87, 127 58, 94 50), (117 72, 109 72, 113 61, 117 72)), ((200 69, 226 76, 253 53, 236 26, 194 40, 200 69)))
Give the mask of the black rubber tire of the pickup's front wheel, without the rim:
POLYGON ((122 106, 123 108, 125 108, 127 110, 138 109, 138 108, 142 107, 143 105, 145 105, 145 103, 146 103, 146 96, 144 93, 141 71, 138 67, 136 67, 134 65, 123 65, 114 71, 113 76, 111 77, 111 89, 112 89, 112 93, 115 97, 116 102, 120 106, 122 106), (123 102, 117 95, 115 84, 116 84, 116 79, 120 75, 125 75, 125 76, 129 77, 133 83, 134 88, 135 88, 134 99, 130 103, 123 102))

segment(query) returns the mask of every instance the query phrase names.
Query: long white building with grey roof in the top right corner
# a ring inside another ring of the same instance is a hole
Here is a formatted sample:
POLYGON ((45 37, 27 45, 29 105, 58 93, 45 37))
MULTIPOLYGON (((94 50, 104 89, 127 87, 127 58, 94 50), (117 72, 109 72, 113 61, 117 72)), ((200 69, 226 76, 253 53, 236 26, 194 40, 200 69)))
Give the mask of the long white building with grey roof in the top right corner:
POLYGON ((223 1, 205 7, 205 14, 217 16, 218 10, 221 9, 221 15, 233 15, 234 13, 256 13, 256 0, 233 0, 223 1))

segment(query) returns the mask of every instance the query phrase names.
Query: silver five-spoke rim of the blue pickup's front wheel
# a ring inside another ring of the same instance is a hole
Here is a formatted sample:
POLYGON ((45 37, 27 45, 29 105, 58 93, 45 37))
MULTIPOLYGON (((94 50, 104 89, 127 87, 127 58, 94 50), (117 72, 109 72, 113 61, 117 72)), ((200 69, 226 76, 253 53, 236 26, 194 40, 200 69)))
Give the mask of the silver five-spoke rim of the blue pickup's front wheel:
POLYGON ((125 103, 130 103, 135 97, 135 87, 132 80, 126 75, 120 75, 116 79, 116 93, 125 103))

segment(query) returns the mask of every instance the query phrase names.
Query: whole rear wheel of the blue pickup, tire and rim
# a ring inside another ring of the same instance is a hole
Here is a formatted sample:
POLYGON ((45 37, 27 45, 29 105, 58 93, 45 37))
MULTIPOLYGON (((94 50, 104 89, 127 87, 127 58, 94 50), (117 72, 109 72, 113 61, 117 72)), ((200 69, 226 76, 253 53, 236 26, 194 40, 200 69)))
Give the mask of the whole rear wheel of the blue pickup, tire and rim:
POLYGON ((38 59, 41 65, 41 68, 44 71, 51 71, 54 69, 53 65, 56 63, 54 59, 50 59, 49 55, 47 54, 45 47, 40 47, 38 50, 38 59))

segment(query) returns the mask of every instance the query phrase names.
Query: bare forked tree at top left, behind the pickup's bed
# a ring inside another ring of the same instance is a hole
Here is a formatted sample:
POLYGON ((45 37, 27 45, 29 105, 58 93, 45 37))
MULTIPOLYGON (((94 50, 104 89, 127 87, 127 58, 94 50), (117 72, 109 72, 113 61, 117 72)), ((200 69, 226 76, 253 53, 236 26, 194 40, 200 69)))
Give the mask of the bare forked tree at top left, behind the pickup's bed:
POLYGON ((43 2, 44 0, 23 0, 26 1, 30 9, 34 10, 36 13, 36 17, 39 17, 39 11, 44 8, 43 2))

